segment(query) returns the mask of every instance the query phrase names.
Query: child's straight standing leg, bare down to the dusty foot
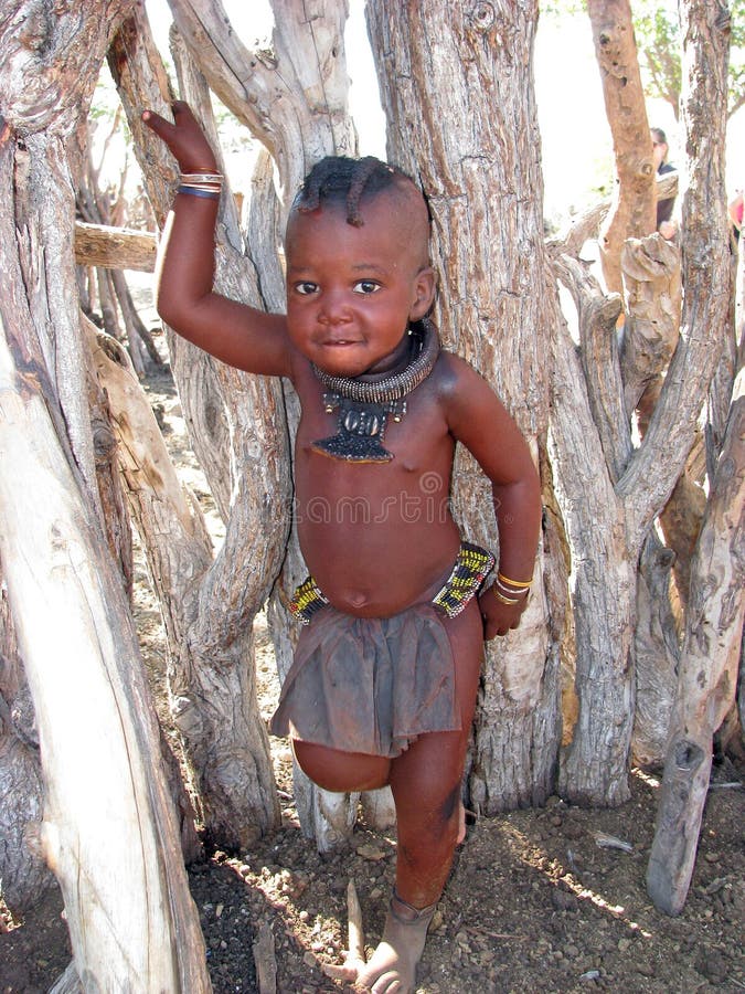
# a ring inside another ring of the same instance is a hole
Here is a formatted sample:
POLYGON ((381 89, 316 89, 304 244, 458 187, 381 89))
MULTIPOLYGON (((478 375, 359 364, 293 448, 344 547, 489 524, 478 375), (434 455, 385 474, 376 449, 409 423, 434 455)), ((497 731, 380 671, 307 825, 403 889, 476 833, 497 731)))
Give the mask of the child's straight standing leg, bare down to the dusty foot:
POLYGON ((414 990, 418 963, 453 863, 460 828, 460 785, 483 655, 483 625, 476 601, 447 623, 456 660, 461 731, 422 736, 391 762, 396 803, 396 893, 383 939, 356 983, 400 994, 414 990), (417 914, 417 910, 424 910, 417 914), (397 984, 397 986, 396 986, 397 984))

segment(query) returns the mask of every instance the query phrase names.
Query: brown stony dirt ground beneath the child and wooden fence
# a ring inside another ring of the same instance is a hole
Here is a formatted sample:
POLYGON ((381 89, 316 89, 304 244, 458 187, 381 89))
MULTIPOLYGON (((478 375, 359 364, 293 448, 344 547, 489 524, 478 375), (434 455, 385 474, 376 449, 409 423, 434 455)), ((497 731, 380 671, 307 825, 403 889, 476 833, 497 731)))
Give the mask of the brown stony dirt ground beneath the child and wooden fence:
MULTIPOLYGON (((151 390, 184 478, 219 530, 167 379, 151 390)), ((137 616, 148 665, 162 673, 159 613, 138 563, 137 616)), ((262 620, 262 712, 277 698, 262 620)), ((358 829, 348 852, 321 858, 300 832, 288 743, 273 741, 281 828, 240 857, 212 853, 190 868, 215 992, 258 991, 253 943, 270 929, 283 994, 333 992, 323 976, 347 941, 347 885, 355 881, 369 948, 393 881, 395 834, 358 829)), ((634 771, 631 800, 613 811, 552 797, 541 810, 481 818, 468 828, 419 967, 422 994, 745 990, 745 770, 714 766, 690 896, 679 918, 658 913, 645 889, 658 776, 634 771), (608 836, 615 839, 608 845, 608 836), (618 847, 618 843, 622 845, 618 847)), ((24 921, 0 914, 0 994, 45 992, 70 961, 57 895, 24 921)))

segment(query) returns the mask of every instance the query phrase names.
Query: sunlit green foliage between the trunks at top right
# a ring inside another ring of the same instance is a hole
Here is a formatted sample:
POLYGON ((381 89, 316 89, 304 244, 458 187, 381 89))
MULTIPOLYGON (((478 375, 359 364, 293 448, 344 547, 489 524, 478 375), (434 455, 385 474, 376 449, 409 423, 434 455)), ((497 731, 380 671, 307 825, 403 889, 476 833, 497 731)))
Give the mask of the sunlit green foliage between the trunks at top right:
MULTIPOLYGON (((546 17, 572 17, 587 10, 586 0, 541 0, 546 17)), ((678 117, 680 104, 680 23, 677 0, 631 0, 639 67, 645 92, 667 101, 678 117)), ((745 0, 730 0, 731 50, 728 110, 745 104, 745 0)))

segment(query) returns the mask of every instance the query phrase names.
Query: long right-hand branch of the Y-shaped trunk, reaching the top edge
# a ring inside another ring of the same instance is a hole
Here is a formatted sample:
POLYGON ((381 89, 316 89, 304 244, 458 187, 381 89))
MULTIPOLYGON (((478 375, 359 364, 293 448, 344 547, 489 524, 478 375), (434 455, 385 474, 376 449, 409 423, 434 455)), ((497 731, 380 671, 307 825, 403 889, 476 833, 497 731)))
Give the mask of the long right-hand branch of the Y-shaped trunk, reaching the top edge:
POLYGON ((690 178, 683 200, 681 337, 641 447, 619 480, 631 549, 639 549, 667 503, 693 444, 695 425, 722 352, 730 310, 724 184, 728 20, 685 0, 682 106, 690 178))

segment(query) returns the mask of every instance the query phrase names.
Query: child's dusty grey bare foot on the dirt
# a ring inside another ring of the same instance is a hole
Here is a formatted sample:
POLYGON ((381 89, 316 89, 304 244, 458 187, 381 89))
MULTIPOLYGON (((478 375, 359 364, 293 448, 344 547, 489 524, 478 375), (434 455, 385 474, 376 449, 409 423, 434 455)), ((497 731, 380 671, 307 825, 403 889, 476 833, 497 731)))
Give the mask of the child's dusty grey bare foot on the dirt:
POLYGON ((383 938, 370 962, 345 963, 342 967, 327 967, 326 972, 373 994, 413 994, 416 965, 436 907, 434 903, 417 911, 394 893, 383 938))

